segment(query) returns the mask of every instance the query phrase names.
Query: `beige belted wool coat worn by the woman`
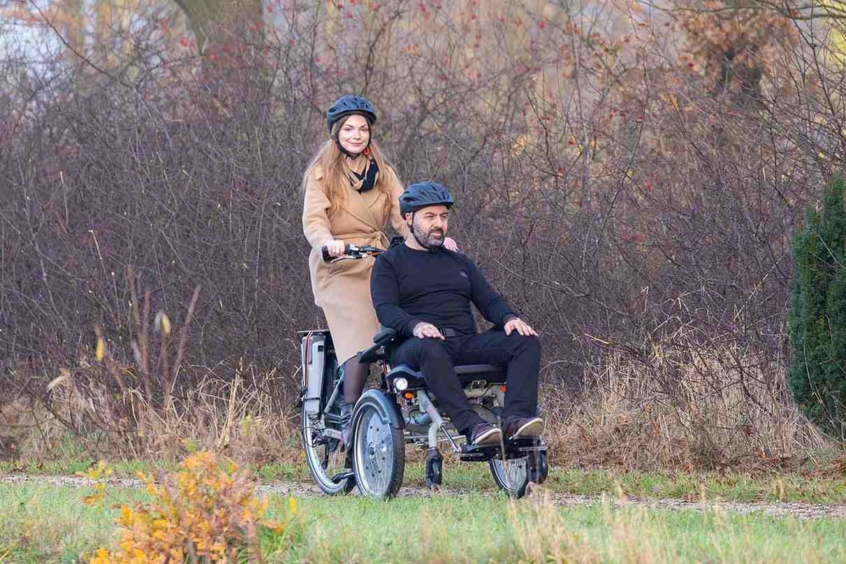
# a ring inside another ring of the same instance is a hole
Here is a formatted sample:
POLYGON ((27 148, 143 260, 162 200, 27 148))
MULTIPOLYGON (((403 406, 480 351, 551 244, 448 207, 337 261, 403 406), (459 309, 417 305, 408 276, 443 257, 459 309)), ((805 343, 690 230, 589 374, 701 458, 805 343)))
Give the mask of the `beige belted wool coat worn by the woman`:
POLYGON ((399 213, 398 198, 404 190, 403 185, 393 169, 380 171, 379 175, 390 188, 390 202, 387 202, 387 194, 376 187, 359 192, 350 185, 347 202, 332 218, 329 217, 330 202, 323 188, 322 170, 315 167, 305 181, 303 232, 311 245, 311 290, 315 303, 326 315, 338 363, 346 362, 356 352, 371 346, 373 335, 379 330, 370 292, 375 259, 324 263, 321 247, 338 239, 385 249, 389 244, 384 233, 388 224, 400 235, 408 232, 399 213))

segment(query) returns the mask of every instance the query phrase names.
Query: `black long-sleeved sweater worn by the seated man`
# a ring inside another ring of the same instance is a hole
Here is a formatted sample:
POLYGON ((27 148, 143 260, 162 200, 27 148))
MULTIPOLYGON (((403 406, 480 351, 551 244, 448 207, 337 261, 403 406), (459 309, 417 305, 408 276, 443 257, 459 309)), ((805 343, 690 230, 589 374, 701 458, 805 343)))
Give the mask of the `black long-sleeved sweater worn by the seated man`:
POLYGON ((443 247, 416 251, 402 244, 383 252, 373 266, 371 297, 379 323, 407 337, 420 322, 474 334, 471 301, 494 325, 517 317, 470 258, 443 247))

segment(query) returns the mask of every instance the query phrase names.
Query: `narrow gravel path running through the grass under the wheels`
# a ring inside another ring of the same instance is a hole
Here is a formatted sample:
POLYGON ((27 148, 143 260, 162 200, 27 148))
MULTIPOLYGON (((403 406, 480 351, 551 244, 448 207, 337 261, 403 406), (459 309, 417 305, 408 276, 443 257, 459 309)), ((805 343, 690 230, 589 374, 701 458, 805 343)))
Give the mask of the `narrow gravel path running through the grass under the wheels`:
MULTIPOLYGON (((116 488, 140 488, 141 483, 131 478, 112 478, 103 481, 109 486, 116 488)), ((94 481, 88 478, 76 478, 70 476, 0 476, 0 484, 9 483, 38 483, 67 485, 76 488, 91 486, 94 481)), ((322 495, 316 485, 308 482, 277 482, 273 484, 257 484, 256 491, 260 494, 296 495, 296 496, 319 496, 322 495)), ((558 506, 591 506, 601 503, 601 495, 573 495, 561 494, 548 489, 539 489, 542 495, 548 495, 549 499, 558 506)), ((441 488, 436 492, 419 486, 404 486, 399 490, 398 497, 434 497, 434 496, 459 496, 470 493, 478 493, 476 490, 441 488)), ((534 495, 534 494, 533 494, 534 495)), ((635 497, 618 498, 616 496, 604 496, 604 499, 615 507, 651 507, 657 509, 674 509, 688 511, 733 511, 738 513, 761 512, 765 515, 775 517, 795 517, 797 519, 846 519, 846 503, 764 503, 752 502, 741 503, 738 501, 688 501, 678 499, 643 500, 635 497)))

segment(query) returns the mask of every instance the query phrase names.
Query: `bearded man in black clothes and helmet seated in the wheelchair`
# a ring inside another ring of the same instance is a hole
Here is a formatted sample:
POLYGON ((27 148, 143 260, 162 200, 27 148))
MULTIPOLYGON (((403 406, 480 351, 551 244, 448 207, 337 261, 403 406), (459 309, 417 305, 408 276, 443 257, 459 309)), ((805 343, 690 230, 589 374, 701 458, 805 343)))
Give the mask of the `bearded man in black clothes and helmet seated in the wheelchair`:
POLYGON ((409 337, 392 360, 423 373, 440 406, 471 444, 498 443, 503 434, 505 440, 539 435, 544 422, 537 417, 537 334, 491 288, 475 263, 443 247, 452 206, 453 196, 435 182, 410 185, 399 196, 409 235, 376 258, 371 275, 379 322, 409 337), (471 302, 494 329, 476 333, 471 302), (455 373, 456 364, 486 363, 506 368, 503 429, 473 410, 455 373))

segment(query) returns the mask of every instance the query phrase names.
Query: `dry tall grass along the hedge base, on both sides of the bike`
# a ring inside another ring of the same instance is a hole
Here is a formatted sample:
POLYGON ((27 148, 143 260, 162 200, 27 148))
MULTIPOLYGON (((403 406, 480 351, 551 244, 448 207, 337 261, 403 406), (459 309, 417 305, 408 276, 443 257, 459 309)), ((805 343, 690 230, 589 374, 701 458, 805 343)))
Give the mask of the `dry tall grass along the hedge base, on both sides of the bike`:
MULTIPOLYGON (((57 457, 69 441, 91 456, 178 460, 197 449, 239 462, 296 462, 294 377, 241 367, 232 378, 206 371, 163 403, 147 395, 137 370, 105 359, 80 362, 50 390, 50 401, 8 402, 0 438, 14 456, 57 457), (125 390, 103 371, 124 374, 125 390), (134 381, 134 384, 132 383, 134 381), (143 417, 140 415, 143 413, 143 417)), ((795 469, 831 441, 796 410, 783 365, 754 346, 696 342, 686 330, 652 340, 638 353, 610 350, 585 364, 585 387, 572 401, 548 385, 551 462, 637 470, 795 469)))

